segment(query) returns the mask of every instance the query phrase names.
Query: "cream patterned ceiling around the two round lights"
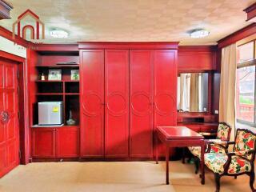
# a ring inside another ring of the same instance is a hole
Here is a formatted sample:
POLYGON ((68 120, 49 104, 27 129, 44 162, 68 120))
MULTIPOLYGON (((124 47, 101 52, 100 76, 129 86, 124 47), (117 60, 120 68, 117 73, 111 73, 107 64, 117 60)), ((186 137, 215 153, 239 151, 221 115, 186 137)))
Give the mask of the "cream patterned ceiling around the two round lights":
MULTIPOLYGON (((250 24, 242 10, 254 0, 10 0, 12 30, 18 15, 30 9, 46 25, 46 43, 59 42, 181 42, 212 45, 250 24), (194 28, 210 30, 207 38, 193 39, 194 28), (49 31, 68 31, 67 39, 54 39, 49 31)), ((26 22, 30 22, 27 19, 26 22)), ((24 22, 25 23, 25 22, 24 22)))

